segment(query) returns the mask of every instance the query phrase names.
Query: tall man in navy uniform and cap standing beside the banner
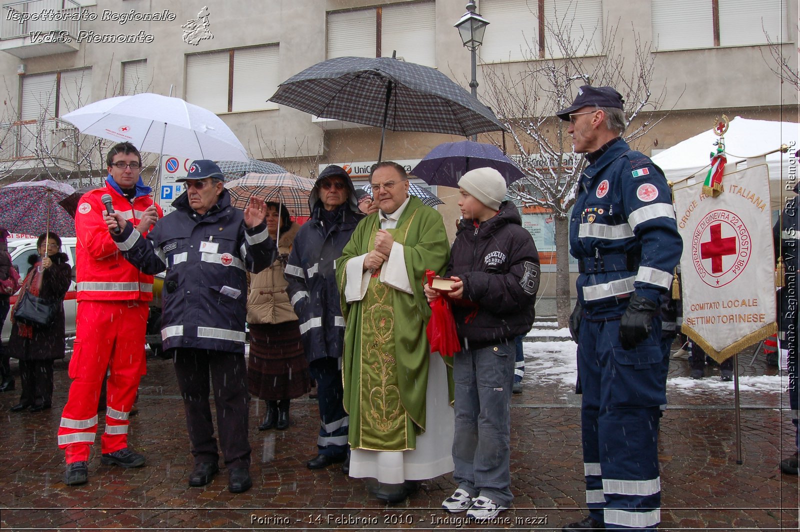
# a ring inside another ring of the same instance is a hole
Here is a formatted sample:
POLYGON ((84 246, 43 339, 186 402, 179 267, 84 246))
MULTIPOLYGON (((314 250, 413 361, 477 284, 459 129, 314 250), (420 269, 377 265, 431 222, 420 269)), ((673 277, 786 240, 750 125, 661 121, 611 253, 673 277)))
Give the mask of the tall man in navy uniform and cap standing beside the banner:
POLYGON ((654 530, 661 521, 658 406, 662 379, 658 299, 681 258, 670 189, 662 170, 622 139, 622 95, 582 86, 570 121, 588 166, 570 218, 578 259, 578 342, 586 504, 590 514, 562 530, 654 530))

